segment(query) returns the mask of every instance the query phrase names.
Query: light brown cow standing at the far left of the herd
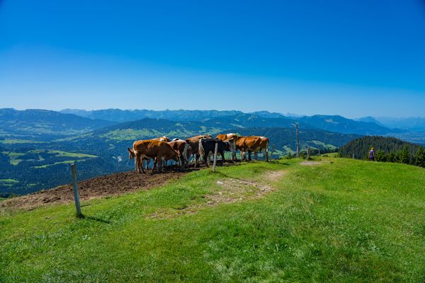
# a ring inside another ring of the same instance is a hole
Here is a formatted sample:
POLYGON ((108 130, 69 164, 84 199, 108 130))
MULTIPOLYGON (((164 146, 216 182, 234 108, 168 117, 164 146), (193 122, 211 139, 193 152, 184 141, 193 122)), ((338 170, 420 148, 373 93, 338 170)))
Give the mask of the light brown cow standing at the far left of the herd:
MULTIPOLYGON (((162 163, 166 160, 179 161, 179 154, 171 148, 165 141, 141 140, 135 141, 133 148, 129 149, 129 158, 135 158, 135 170, 139 173, 145 173, 143 163, 145 159, 154 158, 157 161, 157 169, 162 170, 162 163)), ((154 168, 152 168, 152 171, 154 168)))

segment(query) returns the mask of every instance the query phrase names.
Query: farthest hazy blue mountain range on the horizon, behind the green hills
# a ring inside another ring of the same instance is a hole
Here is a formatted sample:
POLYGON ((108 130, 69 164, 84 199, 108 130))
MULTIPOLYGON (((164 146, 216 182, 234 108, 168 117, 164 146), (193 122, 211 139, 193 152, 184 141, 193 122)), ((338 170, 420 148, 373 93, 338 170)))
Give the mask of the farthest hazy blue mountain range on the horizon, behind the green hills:
POLYGON ((339 115, 314 115, 290 117, 276 112, 257 111, 244 113, 237 110, 61 110, 64 113, 81 115, 91 119, 101 119, 113 122, 129 122, 143 118, 165 119, 171 121, 197 122, 227 122, 235 127, 293 127, 296 122, 305 129, 324 129, 343 134, 389 134, 404 132, 400 129, 390 129, 376 122, 356 121, 339 115))

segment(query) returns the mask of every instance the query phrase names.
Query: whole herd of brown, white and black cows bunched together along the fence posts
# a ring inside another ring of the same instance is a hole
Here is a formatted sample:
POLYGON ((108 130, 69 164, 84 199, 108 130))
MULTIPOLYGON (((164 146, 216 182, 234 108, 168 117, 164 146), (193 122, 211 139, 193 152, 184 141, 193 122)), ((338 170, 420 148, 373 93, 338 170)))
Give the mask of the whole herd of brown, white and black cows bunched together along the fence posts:
POLYGON ((254 152, 254 158, 260 151, 266 155, 268 161, 268 138, 249 136, 242 137, 237 134, 219 134, 216 138, 209 134, 190 137, 188 139, 173 139, 168 137, 159 137, 157 139, 145 139, 135 141, 132 149, 128 148, 129 158, 135 159, 135 170, 139 173, 145 173, 149 161, 154 159, 154 166, 158 171, 162 171, 166 161, 173 160, 179 164, 180 168, 188 168, 191 160, 194 160, 195 166, 202 158, 203 162, 209 166, 210 156, 214 154, 215 144, 217 144, 217 155, 220 154, 221 162, 225 161, 225 151, 232 152, 232 161, 237 160, 237 150, 241 153, 241 160, 251 161, 251 153, 254 152))

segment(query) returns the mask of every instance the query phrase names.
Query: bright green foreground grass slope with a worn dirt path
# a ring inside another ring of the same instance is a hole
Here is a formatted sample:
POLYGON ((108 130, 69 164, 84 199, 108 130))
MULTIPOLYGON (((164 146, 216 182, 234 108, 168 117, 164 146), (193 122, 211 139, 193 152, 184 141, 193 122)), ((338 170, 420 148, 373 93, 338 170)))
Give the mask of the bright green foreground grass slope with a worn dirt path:
POLYGON ((249 163, 83 205, 0 211, 0 282, 425 282, 423 168, 249 163))

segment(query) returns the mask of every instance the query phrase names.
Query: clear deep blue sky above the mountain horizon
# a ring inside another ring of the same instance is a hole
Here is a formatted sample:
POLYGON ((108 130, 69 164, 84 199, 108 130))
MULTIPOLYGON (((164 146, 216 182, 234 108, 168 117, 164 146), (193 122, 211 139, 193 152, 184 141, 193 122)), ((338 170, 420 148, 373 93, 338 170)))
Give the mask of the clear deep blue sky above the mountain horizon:
POLYGON ((0 0, 0 98, 425 116, 425 2, 0 0))

